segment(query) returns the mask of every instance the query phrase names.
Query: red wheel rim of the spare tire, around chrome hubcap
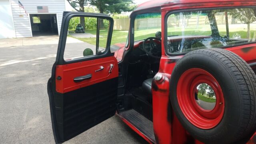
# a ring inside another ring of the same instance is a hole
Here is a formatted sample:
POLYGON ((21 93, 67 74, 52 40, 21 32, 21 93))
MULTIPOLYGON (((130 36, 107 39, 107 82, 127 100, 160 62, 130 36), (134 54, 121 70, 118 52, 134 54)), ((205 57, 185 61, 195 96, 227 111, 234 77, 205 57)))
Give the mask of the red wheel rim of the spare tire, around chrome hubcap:
POLYGON ((210 129, 217 126, 224 114, 224 96, 218 81, 206 70, 191 68, 186 70, 178 81, 177 99, 180 109, 187 120, 194 126, 210 129), (214 90, 216 104, 212 110, 198 106, 194 94, 199 84, 208 84, 214 90))

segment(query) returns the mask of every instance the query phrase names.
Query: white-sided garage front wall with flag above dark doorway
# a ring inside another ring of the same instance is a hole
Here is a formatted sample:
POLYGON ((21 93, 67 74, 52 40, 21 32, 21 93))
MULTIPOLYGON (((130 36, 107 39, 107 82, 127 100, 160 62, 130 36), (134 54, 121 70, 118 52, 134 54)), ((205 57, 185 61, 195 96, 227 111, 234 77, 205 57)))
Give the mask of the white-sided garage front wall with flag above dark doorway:
MULTIPOLYGON (((16 37, 32 37, 29 15, 26 16, 23 8, 19 7, 18 0, 10 0, 12 5, 13 22, 16 37), (23 17, 20 17, 23 15, 23 17)), ((66 10, 65 0, 20 0, 28 14, 56 14, 58 19, 58 32, 62 22, 62 13, 66 10), (48 6, 48 13, 38 13, 37 6, 48 6)))

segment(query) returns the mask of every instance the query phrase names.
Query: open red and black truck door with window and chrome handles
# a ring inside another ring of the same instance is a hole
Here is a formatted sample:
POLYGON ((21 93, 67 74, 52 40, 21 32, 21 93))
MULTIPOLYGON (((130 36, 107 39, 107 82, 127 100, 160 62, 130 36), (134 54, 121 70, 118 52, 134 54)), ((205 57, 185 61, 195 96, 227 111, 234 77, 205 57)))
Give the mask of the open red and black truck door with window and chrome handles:
POLYGON ((70 140, 116 112, 118 63, 110 52, 113 23, 106 14, 64 12, 56 62, 48 81, 56 143, 70 140), (85 30, 94 24, 91 28, 95 31, 75 33, 78 24, 85 30))

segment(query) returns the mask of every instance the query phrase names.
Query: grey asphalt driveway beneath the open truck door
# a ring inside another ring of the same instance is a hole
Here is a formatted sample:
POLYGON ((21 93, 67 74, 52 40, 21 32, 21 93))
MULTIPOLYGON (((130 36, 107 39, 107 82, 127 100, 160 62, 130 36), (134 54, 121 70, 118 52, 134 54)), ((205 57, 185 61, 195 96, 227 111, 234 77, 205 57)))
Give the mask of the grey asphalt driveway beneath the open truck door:
MULTIPOLYGON (((0 40, 1 144, 54 143, 46 84, 57 43, 58 36, 0 40)), ((146 141, 114 116, 66 143, 146 144, 146 141)))

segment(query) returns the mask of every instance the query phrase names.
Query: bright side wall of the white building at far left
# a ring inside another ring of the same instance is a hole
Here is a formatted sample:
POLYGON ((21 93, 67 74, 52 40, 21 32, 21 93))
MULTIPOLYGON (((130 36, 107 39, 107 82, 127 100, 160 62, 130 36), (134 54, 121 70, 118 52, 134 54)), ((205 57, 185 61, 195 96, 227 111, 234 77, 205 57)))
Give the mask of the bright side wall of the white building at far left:
POLYGON ((0 38, 15 38, 9 0, 0 0, 0 38))

